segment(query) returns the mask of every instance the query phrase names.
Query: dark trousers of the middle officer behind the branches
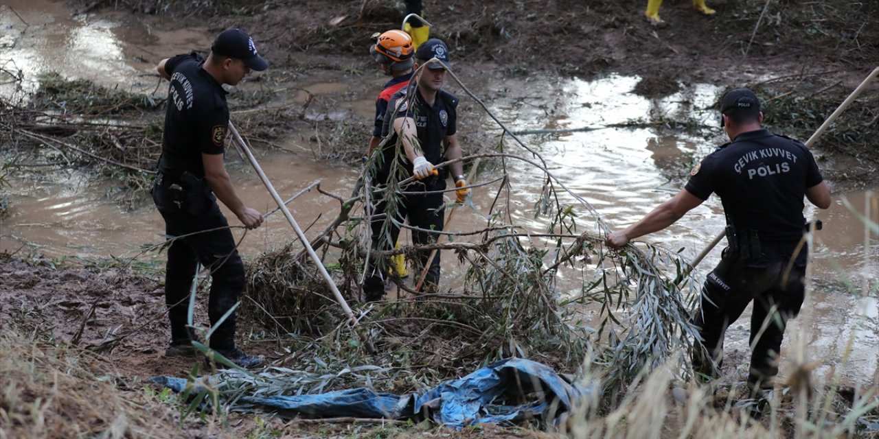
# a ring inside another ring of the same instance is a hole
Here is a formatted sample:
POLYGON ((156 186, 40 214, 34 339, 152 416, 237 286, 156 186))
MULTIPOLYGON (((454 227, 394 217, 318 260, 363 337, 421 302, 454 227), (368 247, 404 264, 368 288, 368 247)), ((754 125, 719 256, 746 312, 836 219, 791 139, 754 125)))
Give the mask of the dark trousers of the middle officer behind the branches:
MULTIPOLYGON (((436 179, 428 184, 414 184, 412 191, 443 191, 446 189, 444 180, 436 179)), ((380 215, 388 212, 388 201, 384 198, 378 199, 374 205, 374 215, 380 215)), ((399 223, 403 219, 408 219, 410 226, 425 229, 425 231, 412 230, 412 243, 415 245, 425 245, 436 242, 439 234, 426 232, 427 230, 442 231, 443 221, 446 217, 446 211, 443 209, 443 194, 435 192, 430 194, 410 194, 403 192, 399 202, 396 204, 396 215, 394 219, 399 223)), ((395 223, 386 221, 385 219, 374 219, 370 224, 373 231, 372 248, 374 250, 389 250, 394 248, 394 243, 400 235, 400 227, 395 223)), ((425 275, 425 286, 439 284, 439 251, 433 257, 430 269, 425 275)), ((427 259, 430 257, 431 251, 425 250, 418 255, 418 270, 416 276, 421 276, 427 259)), ((389 265, 387 260, 375 261, 370 258, 369 267, 367 268, 367 278, 363 282, 363 293, 365 299, 375 300, 381 298, 384 293, 384 277, 387 276, 386 268, 389 265)), ((418 278, 415 279, 418 281, 418 278)))

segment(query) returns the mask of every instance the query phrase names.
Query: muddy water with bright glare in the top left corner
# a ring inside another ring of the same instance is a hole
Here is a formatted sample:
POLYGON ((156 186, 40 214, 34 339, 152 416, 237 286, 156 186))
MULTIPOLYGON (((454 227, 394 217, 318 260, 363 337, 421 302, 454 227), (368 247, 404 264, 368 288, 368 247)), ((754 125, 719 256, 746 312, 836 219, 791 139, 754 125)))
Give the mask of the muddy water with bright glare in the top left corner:
POLYGON ((159 55, 151 45, 185 52, 209 46, 203 29, 156 32, 129 14, 76 14, 65 4, 49 0, 4 0, 0 4, 0 92, 9 96, 24 76, 23 90, 33 90, 37 77, 58 72, 124 90, 155 88, 150 71, 159 55))

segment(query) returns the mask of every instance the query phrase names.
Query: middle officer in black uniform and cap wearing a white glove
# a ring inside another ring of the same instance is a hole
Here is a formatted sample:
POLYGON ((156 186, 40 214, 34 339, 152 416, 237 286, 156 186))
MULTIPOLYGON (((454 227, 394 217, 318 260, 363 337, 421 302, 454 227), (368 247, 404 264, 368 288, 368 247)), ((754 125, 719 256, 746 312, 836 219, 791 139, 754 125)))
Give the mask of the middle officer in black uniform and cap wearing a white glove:
MULTIPOLYGON (((374 169, 374 182, 387 184, 389 181, 402 181, 414 176, 417 181, 408 185, 396 209, 388 209, 387 197, 376 200, 374 215, 388 213, 384 219, 372 222, 372 247, 378 250, 393 248, 403 219, 408 218, 412 230, 412 241, 416 245, 435 242, 442 231, 445 217, 443 193, 446 189, 446 169, 434 169, 433 165, 461 158, 458 144, 457 105, 458 98, 441 90, 449 66, 448 48, 438 39, 425 41, 415 53, 414 68, 418 70, 415 85, 397 91, 391 97, 382 129, 382 137, 391 136, 381 151, 382 157, 374 169), (439 61, 431 61, 433 58, 439 61), (428 62, 430 61, 430 62, 428 62), (420 68, 420 69, 419 69, 420 68), (424 193, 424 192, 429 193, 424 193), (419 193, 408 193, 419 192, 419 193)), ((463 202, 467 196, 467 182, 463 176, 463 164, 454 162, 448 166, 454 176, 457 201, 463 202)), ((382 192, 377 192, 382 193, 382 192)), ((430 255, 424 251, 419 257, 421 267, 427 264, 430 255)), ((373 261, 373 260, 371 260, 373 261)), ((382 264, 371 263, 363 284, 364 297, 378 300, 384 294, 382 264)), ((419 267, 418 273, 421 272, 419 267)), ((428 289, 439 283, 439 252, 432 260, 425 276, 428 289)))

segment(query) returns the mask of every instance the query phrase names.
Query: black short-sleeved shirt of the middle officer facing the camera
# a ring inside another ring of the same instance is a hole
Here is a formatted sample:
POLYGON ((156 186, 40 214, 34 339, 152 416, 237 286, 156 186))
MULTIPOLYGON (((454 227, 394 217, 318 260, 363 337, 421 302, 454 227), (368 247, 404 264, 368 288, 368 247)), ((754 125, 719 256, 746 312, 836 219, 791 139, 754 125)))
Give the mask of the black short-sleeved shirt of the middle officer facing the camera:
MULTIPOLYGON (((415 120, 418 145, 424 153, 425 159, 435 165, 444 162, 443 155, 445 155, 446 151, 443 149, 443 140, 447 136, 457 133, 457 106, 458 98, 443 90, 437 92, 432 106, 425 102, 417 86, 397 91, 390 99, 388 111, 385 112, 384 122, 381 127, 381 137, 391 135, 393 138, 385 143, 385 147, 382 150, 383 157, 377 175, 379 182, 386 183, 388 181, 391 170, 390 164, 395 159, 408 172, 406 176, 412 175, 412 163, 406 157, 403 145, 397 146, 397 134, 393 129, 392 119, 408 117, 415 120), (407 99, 409 93, 415 93, 415 98, 411 100, 411 103, 407 99), (401 100, 403 102, 397 104, 401 100)), ((442 176, 442 173, 440 176, 442 176)))

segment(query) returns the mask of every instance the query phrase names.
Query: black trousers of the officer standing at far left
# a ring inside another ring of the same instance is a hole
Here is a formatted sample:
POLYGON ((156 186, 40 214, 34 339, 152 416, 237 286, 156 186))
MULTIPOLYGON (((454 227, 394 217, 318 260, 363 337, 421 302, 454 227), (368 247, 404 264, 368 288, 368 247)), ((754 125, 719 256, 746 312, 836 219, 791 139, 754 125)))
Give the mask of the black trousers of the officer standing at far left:
MULTIPOLYGON (((192 334, 186 330, 186 311, 198 263, 211 272, 211 290, 207 315, 211 327, 235 306, 244 286, 244 265, 238 255, 229 222, 212 194, 198 194, 207 199, 193 202, 185 191, 154 184, 153 202, 165 221, 165 234, 171 242, 165 272, 165 304, 171 320, 171 342, 186 342, 192 334), (218 229, 218 230, 212 230, 218 229)), ((235 347, 235 313, 217 327, 209 341, 212 349, 235 347)))

